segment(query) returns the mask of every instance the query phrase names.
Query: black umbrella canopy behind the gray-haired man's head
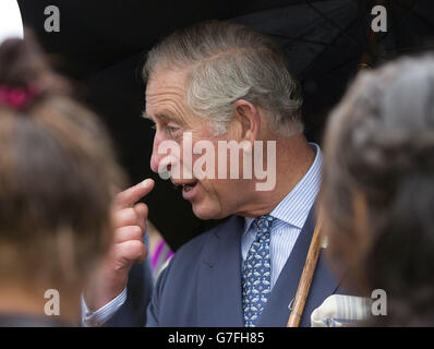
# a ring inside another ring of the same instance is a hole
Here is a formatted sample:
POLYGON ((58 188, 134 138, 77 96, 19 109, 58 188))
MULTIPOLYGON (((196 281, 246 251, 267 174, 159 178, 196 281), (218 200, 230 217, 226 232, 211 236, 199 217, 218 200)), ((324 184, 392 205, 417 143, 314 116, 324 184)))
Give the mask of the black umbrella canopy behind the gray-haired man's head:
POLYGON ((301 82, 306 135, 321 142, 327 112, 361 61, 374 65, 432 47, 430 0, 62 1, 19 0, 24 24, 36 32, 55 65, 73 79, 107 123, 132 182, 157 181, 145 202, 149 219, 173 250, 217 221, 193 216, 190 203, 152 173, 153 130, 142 119, 146 51, 177 28, 207 19, 230 20, 274 37, 301 82), (387 32, 373 34, 372 8, 387 9, 387 32), (60 32, 47 33, 44 10, 60 10, 60 32))

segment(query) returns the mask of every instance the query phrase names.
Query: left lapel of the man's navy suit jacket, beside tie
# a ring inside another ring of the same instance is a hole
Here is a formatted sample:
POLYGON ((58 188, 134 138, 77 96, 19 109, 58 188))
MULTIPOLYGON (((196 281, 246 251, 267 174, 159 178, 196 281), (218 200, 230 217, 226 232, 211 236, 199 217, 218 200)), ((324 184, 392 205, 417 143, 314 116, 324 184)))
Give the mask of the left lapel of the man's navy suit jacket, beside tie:
POLYGON ((197 282, 197 324, 244 326, 241 301, 242 217, 233 216, 209 236, 197 282))

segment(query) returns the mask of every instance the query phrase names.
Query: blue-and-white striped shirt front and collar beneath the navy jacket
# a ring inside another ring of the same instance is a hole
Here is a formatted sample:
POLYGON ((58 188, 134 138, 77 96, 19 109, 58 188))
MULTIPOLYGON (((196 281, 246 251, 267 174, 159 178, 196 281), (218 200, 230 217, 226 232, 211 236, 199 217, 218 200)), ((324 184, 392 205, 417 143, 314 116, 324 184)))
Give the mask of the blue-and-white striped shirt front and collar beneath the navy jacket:
MULTIPOLYGON (((320 146, 310 143, 316 149, 315 159, 291 192, 272 210, 276 220, 270 234, 272 289, 285 266, 293 245, 308 219, 321 186, 323 155, 320 146)), ((244 262, 251 244, 255 240, 255 218, 245 218, 244 233, 241 238, 241 255, 244 262)))

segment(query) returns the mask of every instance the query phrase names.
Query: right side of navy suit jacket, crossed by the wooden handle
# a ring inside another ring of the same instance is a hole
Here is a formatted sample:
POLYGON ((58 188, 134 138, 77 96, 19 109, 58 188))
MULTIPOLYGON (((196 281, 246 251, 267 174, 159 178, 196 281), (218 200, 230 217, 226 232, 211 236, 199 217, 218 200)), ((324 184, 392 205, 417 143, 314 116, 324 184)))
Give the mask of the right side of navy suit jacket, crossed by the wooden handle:
MULTIPOLYGON (((288 305, 296 297, 308 250, 311 244, 313 230, 315 228, 314 212, 314 208, 312 208, 293 250, 273 288, 257 326, 280 327, 286 326, 288 322, 288 305)), ((304 308, 304 315, 301 320, 301 326, 310 326, 310 314, 312 310, 320 306, 323 300, 331 294, 337 286, 337 280, 328 273, 321 257, 312 280, 311 291, 304 308), (320 304, 317 304, 318 302, 320 304)))

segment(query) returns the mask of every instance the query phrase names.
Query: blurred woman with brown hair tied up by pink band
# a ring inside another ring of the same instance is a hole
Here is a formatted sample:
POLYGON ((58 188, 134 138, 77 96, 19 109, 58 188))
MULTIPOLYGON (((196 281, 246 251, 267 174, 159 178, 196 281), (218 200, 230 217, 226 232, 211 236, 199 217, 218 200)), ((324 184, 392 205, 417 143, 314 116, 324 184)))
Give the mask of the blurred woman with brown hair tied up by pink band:
POLYGON ((123 174, 97 118, 28 40, 0 46, 0 326, 70 325, 112 240, 123 174), (46 316, 45 292, 60 296, 46 316), (56 321, 52 318, 56 317, 56 321))

